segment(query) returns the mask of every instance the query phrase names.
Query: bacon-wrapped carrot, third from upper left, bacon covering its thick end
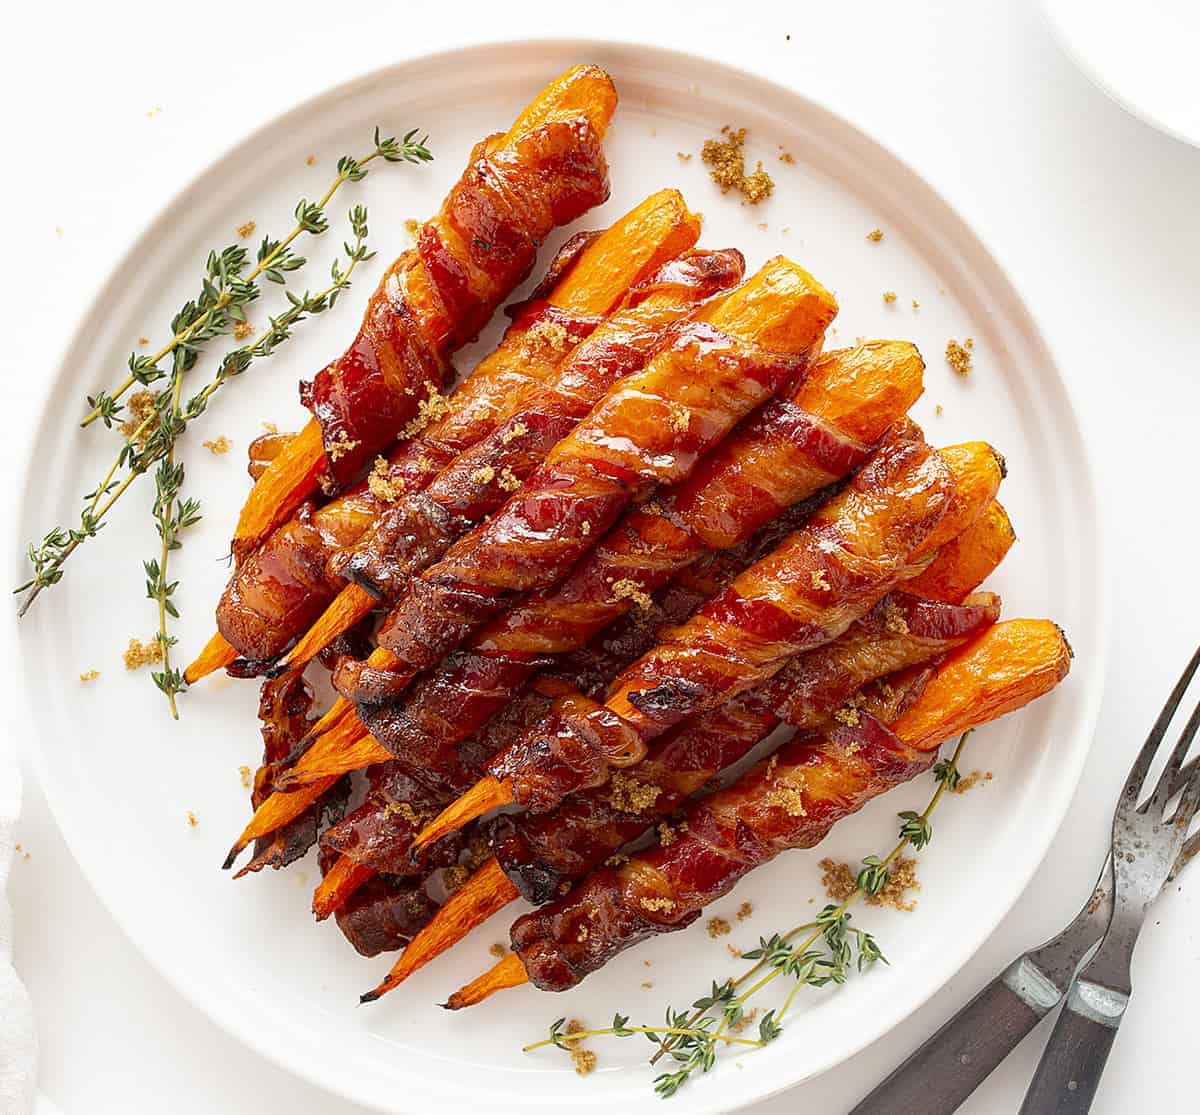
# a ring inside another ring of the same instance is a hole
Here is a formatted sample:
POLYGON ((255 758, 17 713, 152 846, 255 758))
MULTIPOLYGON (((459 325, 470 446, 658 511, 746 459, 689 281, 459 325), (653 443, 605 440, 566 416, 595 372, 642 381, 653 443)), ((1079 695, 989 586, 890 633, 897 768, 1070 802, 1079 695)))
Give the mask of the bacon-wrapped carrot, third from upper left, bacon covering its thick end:
POLYGON ((414 575, 504 504, 606 391, 642 368, 668 325, 734 286, 743 268, 740 252, 696 250, 635 286, 620 308, 488 436, 449 461, 422 491, 396 500, 355 546, 337 554, 331 569, 366 591, 343 589, 283 665, 302 667, 378 598, 402 595, 414 575))

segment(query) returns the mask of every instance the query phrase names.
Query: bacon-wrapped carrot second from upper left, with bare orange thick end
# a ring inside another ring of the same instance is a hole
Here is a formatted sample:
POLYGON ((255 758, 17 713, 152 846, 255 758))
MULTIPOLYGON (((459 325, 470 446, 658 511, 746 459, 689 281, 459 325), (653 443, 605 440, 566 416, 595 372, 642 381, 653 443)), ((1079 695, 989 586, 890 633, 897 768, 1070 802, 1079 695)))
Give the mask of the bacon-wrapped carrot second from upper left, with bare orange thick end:
MULTIPOLYGON (((572 236, 530 298, 510 307, 514 322, 504 338, 445 401, 444 414, 433 415, 426 401, 432 421, 397 445, 385 466, 377 461, 368 480, 319 510, 302 505, 238 570, 217 607, 220 639, 232 643, 222 646, 224 658, 238 653, 266 661, 284 651, 343 587, 332 558, 368 532, 390 503, 420 491, 510 418, 630 287, 698 235, 700 220, 682 194, 661 190, 605 232, 572 236)), ((254 444, 252 472, 282 451, 280 436, 254 444)), ((206 652, 188 669, 188 681, 209 672, 210 661, 226 665, 206 652)))

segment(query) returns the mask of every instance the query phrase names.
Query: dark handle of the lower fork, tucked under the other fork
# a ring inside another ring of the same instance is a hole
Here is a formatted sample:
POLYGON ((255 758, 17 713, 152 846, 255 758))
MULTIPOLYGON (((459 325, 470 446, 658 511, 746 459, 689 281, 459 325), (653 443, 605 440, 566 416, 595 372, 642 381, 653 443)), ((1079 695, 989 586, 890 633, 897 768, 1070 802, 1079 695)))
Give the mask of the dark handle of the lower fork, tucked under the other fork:
POLYGON ((1058 1002, 1061 993, 1024 957, 1013 961, 851 1115, 948 1115, 1058 1002))

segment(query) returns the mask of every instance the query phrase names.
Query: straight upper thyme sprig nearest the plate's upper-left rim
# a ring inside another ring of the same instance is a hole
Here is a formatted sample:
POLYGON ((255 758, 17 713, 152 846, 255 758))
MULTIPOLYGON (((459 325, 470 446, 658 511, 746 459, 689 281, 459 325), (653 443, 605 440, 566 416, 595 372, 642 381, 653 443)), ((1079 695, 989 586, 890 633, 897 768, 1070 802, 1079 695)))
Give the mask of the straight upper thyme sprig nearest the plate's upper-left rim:
POLYGON ((367 164, 377 158, 386 162, 428 162, 433 155, 426 146, 427 142, 427 136, 416 137, 415 128, 401 139, 390 136, 380 138, 379 128, 376 128, 374 149, 361 158, 343 155, 337 161, 337 175, 322 197, 316 202, 301 198, 296 203, 292 230, 282 240, 269 236, 263 239, 254 266, 248 274, 242 274, 248 262, 244 247, 233 245, 221 252, 210 252, 204 265, 200 293, 185 302, 172 319, 170 338, 157 352, 130 353, 128 374, 110 391, 101 390, 88 396, 91 410, 79 425, 90 426, 100 419, 106 426, 112 426, 121 416, 120 398, 130 388, 149 386, 168 374, 188 371, 199 358, 205 342, 229 332, 236 323, 246 320, 246 306, 259 295, 256 282, 259 277, 282 284, 287 281, 287 272, 305 265, 307 260, 292 251, 292 244, 302 234, 319 236, 329 228, 325 206, 343 182, 361 181, 367 175, 367 164), (158 367, 167 356, 172 356, 169 372, 158 367))

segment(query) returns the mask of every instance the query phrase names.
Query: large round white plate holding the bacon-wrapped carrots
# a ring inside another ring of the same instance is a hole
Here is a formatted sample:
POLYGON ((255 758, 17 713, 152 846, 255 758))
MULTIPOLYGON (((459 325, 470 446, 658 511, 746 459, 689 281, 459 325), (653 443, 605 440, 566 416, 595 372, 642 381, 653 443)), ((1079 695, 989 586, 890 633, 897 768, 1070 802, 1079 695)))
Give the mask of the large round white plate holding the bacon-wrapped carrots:
MULTIPOLYGON (((295 384, 337 353, 356 324, 385 258, 404 245, 407 217, 431 212, 479 137, 502 128, 550 77, 589 60, 606 66, 622 92, 612 128, 612 200, 587 218, 595 227, 649 191, 679 186, 706 214, 704 242, 738 245, 751 266, 787 252, 828 283, 841 302, 829 346, 858 335, 917 341, 929 362, 916 409, 931 438, 984 437, 1010 463, 1004 500, 1021 544, 996 577, 1009 615, 1049 615, 1069 631, 1078 659, 1052 697, 974 739, 968 766, 995 780, 952 798, 922 857, 919 910, 864 911, 892 966, 856 978, 838 994, 805 996, 782 1039, 742 1057, 722 1057, 689 1087, 692 1111, 730 1110, 839 1063, 904 1019, 979 947, 1042 859, 1087 753, 1103 677, 1103 593, 1096 499, 1067 390, 1002 270, 961 218, 900 160, 812 101, 751 74, 683 54, 604 43, 480 47, 406 62, 335 89, 251 137, 208 170, 155 221, 91 307, 53 385, 26 480, 20 530, 40 536, 76 514, 77 493, 102 470, 112 436, 80 434, 72 416, 85 391, 116 378, 139 335, 158 337, 191 293, 205 251, 256 220, 259 235, 286 227, 294 200, 324 187, 332 160, 361 151, 374 124, 427 128, 438 161, 386 168, 338 196, 371 206, 380 250, 344 305, 302 331, 270 364, 222 392, 202 431, 188 436, 190 481, 205 520, 173 564, 182 581, 181 649, 211 629, 224 582, 221 561, 245 491, 241 455, 262 420, 282 428, 305 418, 295 384), (775 196, 756 209, 721 197, 698 157, 720 125, 750 128, 749 151, 774 175, 775 196), (780 145, 794 164, 779 161, 780 145), (316 168, 306 156, 319 157, 316 168), (866 233, 880 227, 874 244, 866 233), (895 290, 893 305, 882 292, 895 290), (912 301, 918 300, 919 308, 912 301), (956 377, 942 350, 973 336, 976 370, 956 377), (944 414, 936 414, 943 407, 944 414), (235 451, 204 452, 198 442, 227 434, 235 451)), ((342 236, 314 245, 325 275, 342 236)), ((565 234, 564 234, 565 235, 565 234)), ((548 258, 548 252, 546 253, 548 258)), ((302 282, 304 280, 298 280, 302 282)), ((262 322, 278 294, 254 307, 262 322)), ((485 337, 481 352, 496 330, 485 337)), ((211 359, 196 372, 211 368, 211 359)), ((460 361, 468 367, 467 359, 460 361)), ((734 964, 760 933, 804 919, 818 898, 822 855, 857 861, 894 839, 895 811, 924 801, 930 779, 902 787, 844 823, 818 853, 794 853, 746 880, 712 911, 756 912, 734 934, 709 940, 703 924, 644 945, 566 996, 522 989, 458 1015, 436 1003, 491 963, 487 946, 508 919, 484 927, 403 991, 360 1008, 388 959, 364 960, 332 923, 314 927, 310 861, 234 883, 218 870, 246 820, 238 768, 258 755, 257 688, 216 678, 187 695, 172 724, 149 678, 126 675, 119 654, 131 635, 148 637, 140 559, 156 552, 149 492, 132 496, 102 535, 77 554, 65 581, 44 594, 19 629, 25 682, 37 725, 37 763, 64 832, 96 891, 146 957, 194 1003, 248 1044, 296 1073, 362 1103, 402 1110, 434 1104, 466 1109, 560 1108, 660 1110, 643 1063, 644 1043, 598 1044, 600 1068, 581 1081, 556 1050, 522 1055, 522 1043, 558 1015, 602 1024, 614 1009, 656 1019, 690 1002, 734 964), (80 671, 101 669, 83 687, 80 671), (186 821, 192 810, 193 828, 186 821), (648 965, 648 966, 647 966, 648 965), (643 982, 653 982, 652 989, 643 982)), ((23 571, 23 570, 22 570, 23 571)), ((186 654, 185 654, 186 658, 186 654)))

